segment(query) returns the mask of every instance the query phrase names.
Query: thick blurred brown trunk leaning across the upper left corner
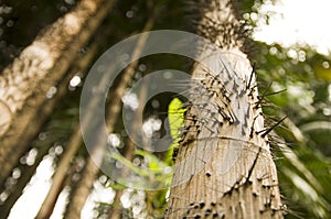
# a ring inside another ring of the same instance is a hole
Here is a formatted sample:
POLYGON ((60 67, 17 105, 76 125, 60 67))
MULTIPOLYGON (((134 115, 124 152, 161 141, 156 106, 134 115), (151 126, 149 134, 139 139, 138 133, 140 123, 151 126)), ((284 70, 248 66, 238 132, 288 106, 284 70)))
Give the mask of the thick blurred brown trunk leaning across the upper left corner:
POLYGON ((0 77, 0 186, 53 111, 60 98, 56 85, 113 3, 82 0, 4 68, 0 77))

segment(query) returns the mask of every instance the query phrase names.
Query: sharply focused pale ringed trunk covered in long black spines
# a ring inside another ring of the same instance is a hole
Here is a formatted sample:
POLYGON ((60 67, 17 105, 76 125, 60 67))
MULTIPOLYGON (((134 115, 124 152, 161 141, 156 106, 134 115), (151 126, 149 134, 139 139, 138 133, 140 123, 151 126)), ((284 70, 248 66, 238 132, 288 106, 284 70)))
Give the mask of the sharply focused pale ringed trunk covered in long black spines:
POLYGON ((197 33, 224 53, 193 68, 168 218, 282 218, 276 166, 243 25, 228 0, 197 4, 197 33), (197 89, 194 89, 196 88, 197 89))

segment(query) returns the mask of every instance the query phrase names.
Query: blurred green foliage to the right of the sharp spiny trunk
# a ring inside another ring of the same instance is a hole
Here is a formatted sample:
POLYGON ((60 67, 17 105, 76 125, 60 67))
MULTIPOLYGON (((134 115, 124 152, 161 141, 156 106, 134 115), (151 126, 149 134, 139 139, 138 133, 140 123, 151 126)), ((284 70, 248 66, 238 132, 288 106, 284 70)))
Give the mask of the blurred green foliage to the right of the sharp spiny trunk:
POLYGON ((290 212, 287 218, 330 218, 331 57, 300 45, 281 47, 258 42, 256 48, 260 83, 273 81, 271 91, 286 90, 267 97, 274 107, 264 111, 279 118, 288 116, 284 127, 276 130, 288 147, 274 147, 279 157, 281 193, 290 212))

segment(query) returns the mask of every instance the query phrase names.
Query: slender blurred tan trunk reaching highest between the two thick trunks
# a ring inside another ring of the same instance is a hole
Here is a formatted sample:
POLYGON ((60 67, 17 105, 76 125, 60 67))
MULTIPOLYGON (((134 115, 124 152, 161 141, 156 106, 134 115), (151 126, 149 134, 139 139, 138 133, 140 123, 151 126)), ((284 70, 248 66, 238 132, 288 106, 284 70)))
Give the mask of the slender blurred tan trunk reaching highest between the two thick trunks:
MULTIPOLYGON (((153 20, 154 18, 151 17, 150 20, 147 22, 143 31, 151 30, 153 25, 153 20)), ((132 52, 132 59, 137 59, 137 57, 139 57, 141 50, 146 44, 146 41, 147 41, 146 36, 139 39, 139 41, 137 42, 137 46, 132 52)), ((109 133, 114 131, 114 125, 117 121, 117 117, 121 109, 121 97, 125 95, 126 88, 129 86, 131 81, 137 65, 138 65, 138 61, 130 63, 130 65, 127 67, 127 69, 125 70, 121 77, 121 83, 116 88, 116 91, 111 98, 113 101, 110 102, 109 109, 107 110, 107 116, 108 116, 107 128, 109 133)), ((93 183, 99 172, 99 166, 102 165, 104 158, 105 142, 103 141, 104 140, 102 139, 96 140, 95 143, 96 146, 92 152, 93 154, 90 154, 90 157, 87 158, 81 179, 72 193, 72 200, 67 206, 65 218, 70 218, 70 219, 81 218, 81 211, 86 202, 86 199, 93 187, 93 183)))

